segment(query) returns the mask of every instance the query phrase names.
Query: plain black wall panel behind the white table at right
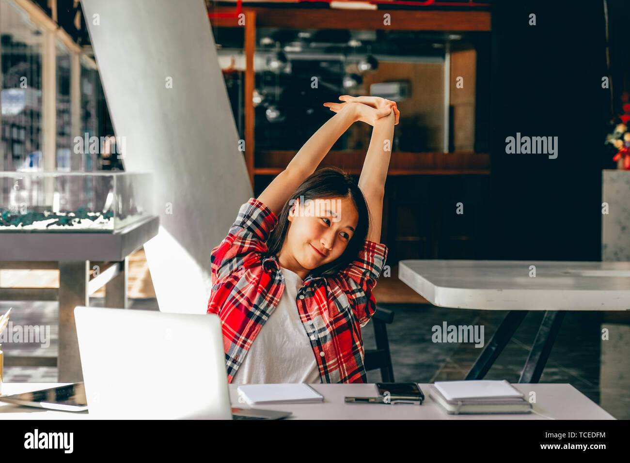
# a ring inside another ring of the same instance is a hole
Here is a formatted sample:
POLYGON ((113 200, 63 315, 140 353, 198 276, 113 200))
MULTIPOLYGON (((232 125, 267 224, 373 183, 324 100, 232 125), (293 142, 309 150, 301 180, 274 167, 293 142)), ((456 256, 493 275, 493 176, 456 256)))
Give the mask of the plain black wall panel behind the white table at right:
POLYGON ((486 258, 600 260, 607 75, 601 1, 493 4, 486 258), (558 158, 506 154, 517 132, 557 136, 558 158))

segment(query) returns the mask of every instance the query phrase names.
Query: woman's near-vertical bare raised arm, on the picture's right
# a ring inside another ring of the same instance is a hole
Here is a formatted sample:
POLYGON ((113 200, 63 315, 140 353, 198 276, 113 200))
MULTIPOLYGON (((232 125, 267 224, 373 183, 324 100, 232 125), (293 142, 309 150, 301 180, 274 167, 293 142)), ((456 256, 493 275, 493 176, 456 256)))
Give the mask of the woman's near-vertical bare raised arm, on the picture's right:
POLYGON ((363 191, 367 208, 370 210, 370 223, 367 238, 375 243, 381 242, 381 221, 383 215, 383 197, 385 195, 385 181, 391 157, 392 139, 394 137, 394 111, 374 123, 370 147, 363 163, 358 186, 363 191))

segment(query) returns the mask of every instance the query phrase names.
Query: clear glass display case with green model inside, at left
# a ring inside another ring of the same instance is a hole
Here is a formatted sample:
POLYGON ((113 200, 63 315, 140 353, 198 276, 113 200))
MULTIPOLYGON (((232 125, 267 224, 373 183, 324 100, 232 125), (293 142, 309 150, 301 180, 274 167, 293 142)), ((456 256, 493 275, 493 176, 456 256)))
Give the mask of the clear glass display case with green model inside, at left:
POLYGON ((0 232, 117 232, 154 215, 152 174, 1 172, 0 232))

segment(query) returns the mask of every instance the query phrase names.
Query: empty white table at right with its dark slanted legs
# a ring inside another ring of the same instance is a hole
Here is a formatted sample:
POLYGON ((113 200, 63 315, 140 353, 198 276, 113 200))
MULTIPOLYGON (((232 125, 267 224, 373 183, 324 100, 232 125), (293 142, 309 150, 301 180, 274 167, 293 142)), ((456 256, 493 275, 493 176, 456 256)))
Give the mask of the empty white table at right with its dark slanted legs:
POLYGON ((466 379, 484 377, 528 311, 546 312, 519 383, 540 379, 565 311, 630 310, 630 262, 401 260, 398 278, 435 306, 510 311, 466 379))

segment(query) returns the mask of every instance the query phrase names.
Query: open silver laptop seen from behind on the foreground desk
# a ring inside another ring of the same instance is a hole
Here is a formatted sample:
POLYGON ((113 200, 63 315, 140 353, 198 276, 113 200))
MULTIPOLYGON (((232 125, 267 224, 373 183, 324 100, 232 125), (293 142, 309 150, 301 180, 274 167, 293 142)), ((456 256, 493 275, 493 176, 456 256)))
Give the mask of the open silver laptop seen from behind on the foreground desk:
POLYGON ((89 414, 104 419, 277 419, 232 408, 214 314, 74 309, 89 414))

